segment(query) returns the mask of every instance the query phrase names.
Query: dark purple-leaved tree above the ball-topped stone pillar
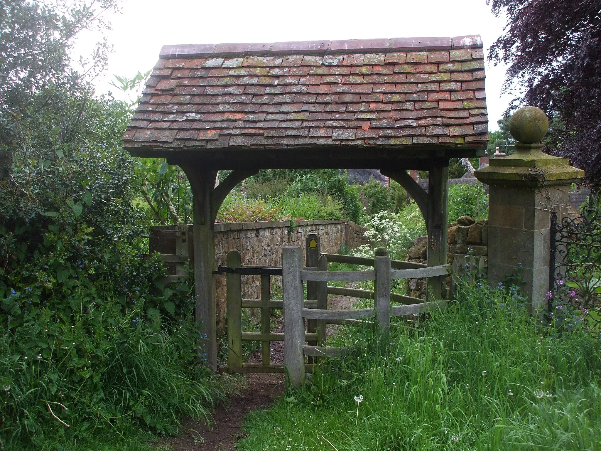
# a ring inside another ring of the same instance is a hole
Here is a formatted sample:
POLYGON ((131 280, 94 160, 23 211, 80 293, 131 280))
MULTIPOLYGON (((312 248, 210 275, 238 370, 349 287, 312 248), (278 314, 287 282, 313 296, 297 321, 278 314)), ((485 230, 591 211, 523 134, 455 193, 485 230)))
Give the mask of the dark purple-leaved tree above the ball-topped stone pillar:
POLYGON ((601 185, 601 1, 487 0, 506 14, 489 57, 506 63, 506 89, 523 94, 510 108, 535 105, 551 121, 546 152, 567 156, 601 185))

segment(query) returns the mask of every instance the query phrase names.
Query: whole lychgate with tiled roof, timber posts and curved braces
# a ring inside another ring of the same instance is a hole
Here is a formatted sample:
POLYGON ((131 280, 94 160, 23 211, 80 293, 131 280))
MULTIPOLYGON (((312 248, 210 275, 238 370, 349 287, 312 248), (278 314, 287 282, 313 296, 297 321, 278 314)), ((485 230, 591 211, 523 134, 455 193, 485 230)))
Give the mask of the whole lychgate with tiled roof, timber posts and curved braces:
MULTIPOLYGON (((195 313, 209 365, 215 216, 240 180, 260 169, 380 170, 415 199, 428 264, 444 265, 448 162, 484 155, 485 97, 478 35, 163 47, 123 145, 179 165, 191 183, 195 313), (233 172, 215 187, 219 170, 233 172), (429 171, 429 192, 406 170, 429 171)), ((429 279, 438 297, 442 278, 429 279)))

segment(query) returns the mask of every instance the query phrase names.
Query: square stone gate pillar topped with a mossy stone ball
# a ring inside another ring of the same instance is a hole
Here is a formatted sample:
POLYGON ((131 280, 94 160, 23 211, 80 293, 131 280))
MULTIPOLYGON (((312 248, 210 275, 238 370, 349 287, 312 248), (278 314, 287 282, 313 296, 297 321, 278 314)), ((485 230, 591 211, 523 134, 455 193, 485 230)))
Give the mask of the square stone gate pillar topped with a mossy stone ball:
POLYGON ((546 307, 551 212, 567 216, 570 184, 584 177, 569 159, 542 152, 548 129, 541 109, 520 108, 510 121, 516 153, 475 171, 489 185, 489 282, 498 284, 521 264, 532 314, 546 307))

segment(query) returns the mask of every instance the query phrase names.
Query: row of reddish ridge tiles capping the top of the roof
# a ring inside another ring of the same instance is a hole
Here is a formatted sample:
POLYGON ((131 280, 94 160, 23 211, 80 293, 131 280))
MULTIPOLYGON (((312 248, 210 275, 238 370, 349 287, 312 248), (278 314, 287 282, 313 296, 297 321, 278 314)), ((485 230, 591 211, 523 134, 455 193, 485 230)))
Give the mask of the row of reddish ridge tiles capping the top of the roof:
POLYGON ((165 45, 159 58, 231 55, 361 54, 417 50, 482 48, 479 34, 455 37, 398 37, 349 40, 288 41, 274 43, 222 43, 165 45))

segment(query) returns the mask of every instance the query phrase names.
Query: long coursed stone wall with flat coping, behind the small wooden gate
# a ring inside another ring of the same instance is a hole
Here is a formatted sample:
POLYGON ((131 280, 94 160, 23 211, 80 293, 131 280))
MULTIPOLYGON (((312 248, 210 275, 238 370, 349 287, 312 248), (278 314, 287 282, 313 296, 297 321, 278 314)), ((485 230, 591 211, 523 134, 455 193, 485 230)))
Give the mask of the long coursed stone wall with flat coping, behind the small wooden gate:
MULTIPOLYGON (((317 233, 325 253, 338 253, 346 242, 344 221, 222 222, 215 224, 215 267, 225 266, 225 256, 232 249, 242 254, 242 264, 251 266, 281 266, 284 246, 305 247, 305 237, 317 233)), ((350 223, 349 223, 350 224, 350 223)), ((225 274, 215 276, 217 325, 225 326, 227 291, 225 274)), ((281 287, 281 277, 272 277, 272 290, 281 287)), ((261 297, 260 276, 242 276, 242 297, 261 297)))

